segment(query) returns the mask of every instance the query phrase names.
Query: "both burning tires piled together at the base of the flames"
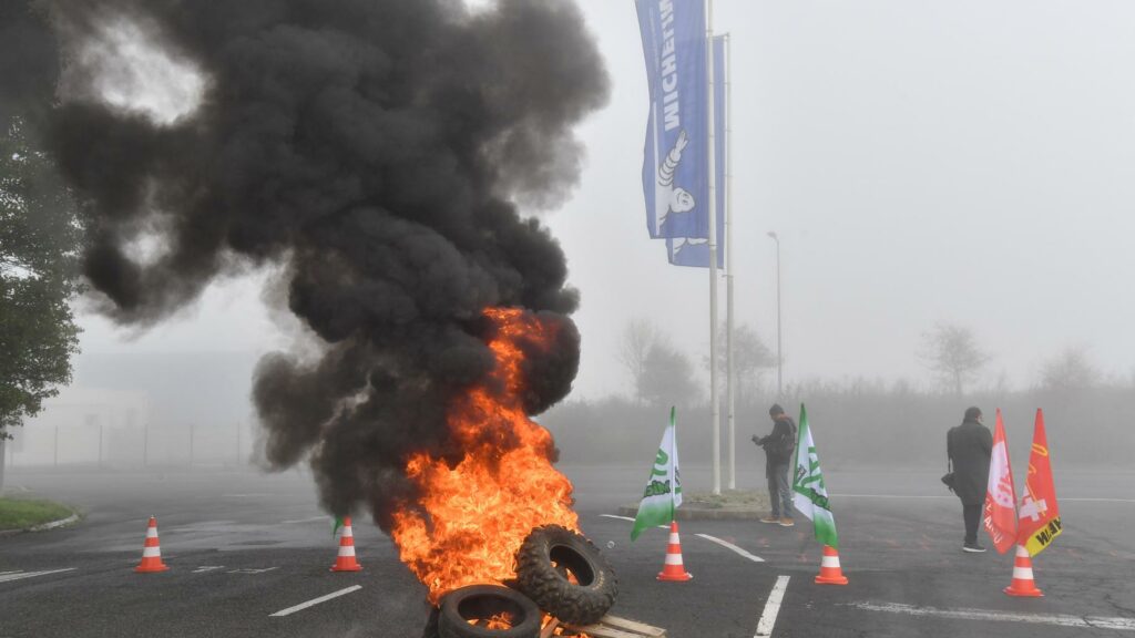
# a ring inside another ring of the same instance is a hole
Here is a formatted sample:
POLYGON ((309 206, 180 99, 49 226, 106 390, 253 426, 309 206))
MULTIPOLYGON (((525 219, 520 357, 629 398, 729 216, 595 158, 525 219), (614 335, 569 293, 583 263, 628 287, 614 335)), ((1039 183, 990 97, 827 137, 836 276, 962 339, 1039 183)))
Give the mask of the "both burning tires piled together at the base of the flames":
POLYGON ((434 610, 423 638, 537 638, 544 614, 569 626, 597 622, 615 604, 615 573, 590 540, 560 526, 532 530, 510 587, 455 589, 434 610))

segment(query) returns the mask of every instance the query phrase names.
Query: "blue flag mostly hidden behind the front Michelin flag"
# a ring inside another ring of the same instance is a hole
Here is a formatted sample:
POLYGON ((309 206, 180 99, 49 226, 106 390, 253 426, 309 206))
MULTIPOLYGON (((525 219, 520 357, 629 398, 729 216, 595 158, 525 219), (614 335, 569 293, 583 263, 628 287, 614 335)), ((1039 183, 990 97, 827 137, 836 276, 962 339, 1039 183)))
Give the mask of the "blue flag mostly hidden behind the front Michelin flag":
MULTIPOLYGON (((725 37, 717 35, 713 39, 713 68, 714 70, 714 173, 716 173, 716 196, 717 200, 717 268, 725 268, 725 159, 729 136, 725 135, 730 117, 726 110, 725 82, 729 75, 725 72, 725 37)), ((692 266, 695 268, 709 268, 709 227, 706 226, 705 235, 698 237, 666 237, 666 257, 674 266, 692 266)))

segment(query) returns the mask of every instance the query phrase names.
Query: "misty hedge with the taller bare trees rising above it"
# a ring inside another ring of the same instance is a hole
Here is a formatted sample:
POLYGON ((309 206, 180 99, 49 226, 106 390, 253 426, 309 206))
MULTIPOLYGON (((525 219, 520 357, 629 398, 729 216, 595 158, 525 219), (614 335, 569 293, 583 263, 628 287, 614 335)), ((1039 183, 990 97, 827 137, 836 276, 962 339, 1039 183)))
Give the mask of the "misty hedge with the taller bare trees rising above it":
MULTIPOLYGON (((644 353, 632 368, 624 364, 636 392, 592 401, 569 401, 540 415, 556 437, 561 460, 571 463, 642 463, 657 446, 670 405, 679 406, 679 440, 684 463, 708 464, 711 405, 692 360, 673 347, 661 331, 639 322, 633 330, 644 353), (655 356, 650 356, 650 352, 655 356), (683 363, 675 360, 684 359, 683 363), (678 376, 678 379, 666 378, 678 376), (670 388, 686 388, 673 393, 670 388)), ((760 344, 756 333, 754 344, 760 344)), ((1044 409, 1053 461, 1068 464, 1129 465, 1135 450, 1135 377, 1104 376, 1087 351, 1070 347, 1044 361, 1036 383, 1010 389, 1003 381, 980 387, 976 380, 991 355, 973 333, 958 326, 939 326, 923 337, 916 353, 934 379, 925 386, 909 379, 893 383, 872 379, 804 379, 789 383, 784 396, 766 387, 764 375, 775 366, 767 349, 753 345, 739 356, 737 402, 738 463, 763 463, 748 439, 766 433, 767 406, 775 401, 790 413, 801 402, 815 430, 825 467, 892 465, 938 469, 945 467, 945 431, 961 421, 969 405, 985 412, 991 428, 994 411, 1006 418, 1010 451, 1017 463, 1027 459, 1033 420, 1044 409), (740 373, 742 368, 745 373, 740 373)), ((774 384, 772 384, 774 385, 774 384)), ((725 411, 722 414, 724 440, 725 411)), ((724 447, 723 447, 724 450, 724 447)))

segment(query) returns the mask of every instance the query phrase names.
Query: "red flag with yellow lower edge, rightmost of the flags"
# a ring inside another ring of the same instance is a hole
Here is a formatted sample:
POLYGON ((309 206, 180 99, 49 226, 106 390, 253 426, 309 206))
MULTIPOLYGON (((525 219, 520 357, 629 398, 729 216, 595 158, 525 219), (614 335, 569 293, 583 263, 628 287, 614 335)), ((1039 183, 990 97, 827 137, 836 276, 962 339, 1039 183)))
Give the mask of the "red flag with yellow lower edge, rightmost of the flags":
POLYGON ((1035 556, 1060 536, 1060 509, 1057 490, 1052 486, 1052 467, 1049 465, 1049 439, 1044 436, 1044 413, 1036 411, 1033 430, 1033 452, 1028 455, 1028 476, 1025 494, 1020 498, 1020 524, 1017 543, 1035 556))

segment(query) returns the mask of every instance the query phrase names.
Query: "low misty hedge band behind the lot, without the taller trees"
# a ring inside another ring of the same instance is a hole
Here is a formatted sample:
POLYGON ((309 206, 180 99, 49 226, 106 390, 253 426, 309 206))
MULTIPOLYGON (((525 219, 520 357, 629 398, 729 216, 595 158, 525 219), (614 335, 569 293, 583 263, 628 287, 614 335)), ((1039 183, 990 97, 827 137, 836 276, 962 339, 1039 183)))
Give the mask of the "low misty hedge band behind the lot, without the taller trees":
MULTIPOLYGON (((968 405, 981 406, 991 428, 994 410, 1003 411, 1017 463, 1027 457, 1037 408, 1044 409, 1049 443, 1057 463, 1129 467, 1130 453, 1135 450, 1133 384, 1101 381, 1077 389, 1037 386, 1019 392, 977 391, 959 401, 949 394, 918 392, 901 381, 886 385, 865 379, 816 380, 790 385, 785 395, 780 402, 792 414, 797 413, 800 402, 807 404, 825 467, 944 468, 945 431, 961 422, 968 405)), ((763 462, 748 438, 751 434, 770 430, 766 409, 774 400, 766 394, 762 400, 747 401, 739 406, 739 463, 763 462), (745 460, 747 457, 749 461, 745 460)), ((609 396, 597 401, 568 401, 541 414, 539 420, 555 436, 564 462, 633 464, 653 457, 667 411, 669 405, 662 403, 637 403, 609 396)), ((684 463, 709 463, 708 423, 706 402, 679 410, 679 440, 684 463)), ((722 433, 724 440, 724 411, 722 433)))

